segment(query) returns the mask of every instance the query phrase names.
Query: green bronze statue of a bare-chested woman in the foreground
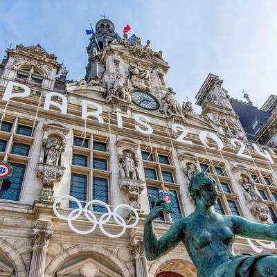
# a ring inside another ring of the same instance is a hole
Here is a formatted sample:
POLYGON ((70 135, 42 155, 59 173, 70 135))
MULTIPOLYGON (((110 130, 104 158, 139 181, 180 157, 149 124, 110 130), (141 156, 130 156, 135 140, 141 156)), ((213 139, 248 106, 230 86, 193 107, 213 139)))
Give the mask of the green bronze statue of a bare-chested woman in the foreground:
POLYGON ((172 224, 157 240, 153 220, 170 210, 159 199, 145 220, 146 258, 155 260, 183 242, 197 267, 198 277, 276 277, 277 258, 271 254, 233 255, 235 235, 277 241, 277 224, 258 224, 236 215, 216 213, 217 187, 204 172, 193 175, 188 185, 195 211, 172 224))

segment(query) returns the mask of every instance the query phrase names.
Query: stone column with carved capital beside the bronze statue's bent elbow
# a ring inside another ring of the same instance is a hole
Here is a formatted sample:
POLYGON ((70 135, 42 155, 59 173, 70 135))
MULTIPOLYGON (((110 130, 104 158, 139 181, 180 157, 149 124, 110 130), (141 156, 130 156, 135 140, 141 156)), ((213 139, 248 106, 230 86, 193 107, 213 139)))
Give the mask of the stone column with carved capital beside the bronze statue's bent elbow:
POLYGON ((143 240, 134 240, 131 244, 130 252, 136 260, 136 277, 149 277, 143 240))

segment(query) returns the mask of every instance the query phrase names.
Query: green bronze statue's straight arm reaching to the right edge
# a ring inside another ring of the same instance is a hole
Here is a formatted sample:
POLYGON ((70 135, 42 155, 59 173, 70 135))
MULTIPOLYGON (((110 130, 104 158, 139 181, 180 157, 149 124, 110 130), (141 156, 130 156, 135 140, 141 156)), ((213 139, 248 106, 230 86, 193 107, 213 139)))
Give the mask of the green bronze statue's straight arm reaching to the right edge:
POLYGON ((231 215, 231 220, 235 235, 277 242, 277 224, 260 224, 236 215, 231 215))

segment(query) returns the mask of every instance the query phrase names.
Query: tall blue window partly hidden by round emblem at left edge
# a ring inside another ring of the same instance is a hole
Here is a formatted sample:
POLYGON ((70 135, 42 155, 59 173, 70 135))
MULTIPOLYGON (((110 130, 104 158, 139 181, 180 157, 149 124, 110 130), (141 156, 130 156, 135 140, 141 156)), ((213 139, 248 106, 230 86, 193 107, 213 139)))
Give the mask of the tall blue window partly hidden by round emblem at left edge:
POLYGON ((13 174, 10 178, 3 180, 0 198, 17 201, 19 200, 26 166, 21 163, 10 163, 10 165, 13 167, 13 174))

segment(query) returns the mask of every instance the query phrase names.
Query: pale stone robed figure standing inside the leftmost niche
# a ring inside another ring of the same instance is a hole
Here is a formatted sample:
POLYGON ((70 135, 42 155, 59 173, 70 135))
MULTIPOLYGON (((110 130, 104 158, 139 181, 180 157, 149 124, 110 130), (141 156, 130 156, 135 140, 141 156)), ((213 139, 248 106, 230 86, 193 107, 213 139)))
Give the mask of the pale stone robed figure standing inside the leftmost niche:
POLYGON ((63 146, 57 139, 51 139, 45 145, 44 161, 53 166, 60 165, 60 156, 62 154, 63 146))

